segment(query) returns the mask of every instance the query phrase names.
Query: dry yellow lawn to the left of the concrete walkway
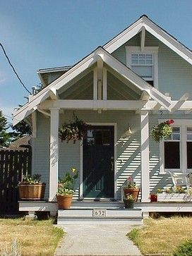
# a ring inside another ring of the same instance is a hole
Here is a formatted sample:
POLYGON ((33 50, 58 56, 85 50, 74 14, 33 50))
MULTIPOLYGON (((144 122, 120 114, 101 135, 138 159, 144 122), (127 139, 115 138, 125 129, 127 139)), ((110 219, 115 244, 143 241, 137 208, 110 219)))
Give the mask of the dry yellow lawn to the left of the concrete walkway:
POLYGON ((20 241, 22 255, 54 255, 63 235, 64 231, 54 227, 52 220, 0 219, 0 255, 1 245, 10 245, 13 238, 20 241))

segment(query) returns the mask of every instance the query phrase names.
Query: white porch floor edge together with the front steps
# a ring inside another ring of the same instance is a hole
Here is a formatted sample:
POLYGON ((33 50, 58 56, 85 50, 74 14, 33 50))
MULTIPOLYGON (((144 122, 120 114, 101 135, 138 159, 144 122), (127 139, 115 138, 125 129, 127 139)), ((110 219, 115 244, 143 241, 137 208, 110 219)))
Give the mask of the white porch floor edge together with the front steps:
POLYGON ((143 224, 151 212, 192 213, 192 202, 136 202, 134 209, 124 209, 122 201, 74 200, 71 209, 58 210, 56 202, 20 201, 19 211, 31 217, 35 212, 57 214, 58 224, 143 224), (103 216, 95 216, 95 209, 103 211, 103 216))

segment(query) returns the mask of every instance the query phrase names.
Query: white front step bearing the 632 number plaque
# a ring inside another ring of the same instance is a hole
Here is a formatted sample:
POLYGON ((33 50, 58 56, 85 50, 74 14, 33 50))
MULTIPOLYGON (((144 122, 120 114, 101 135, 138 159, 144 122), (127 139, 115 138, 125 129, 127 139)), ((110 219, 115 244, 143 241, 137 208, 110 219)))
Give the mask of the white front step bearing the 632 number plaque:
POLYGON ((141 209, 87 208, 58 211, 57 224, 143 224, 141 209))

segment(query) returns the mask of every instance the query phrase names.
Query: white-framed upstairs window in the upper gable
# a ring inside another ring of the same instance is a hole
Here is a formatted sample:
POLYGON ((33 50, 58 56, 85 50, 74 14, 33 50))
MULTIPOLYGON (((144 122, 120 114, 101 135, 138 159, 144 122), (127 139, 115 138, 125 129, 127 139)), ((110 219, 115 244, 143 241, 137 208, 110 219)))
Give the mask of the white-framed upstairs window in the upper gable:
POLYGON ((132 71, 140 75, 155 88, 158 87, 158 47, 126 47, 126 64, 132 71))

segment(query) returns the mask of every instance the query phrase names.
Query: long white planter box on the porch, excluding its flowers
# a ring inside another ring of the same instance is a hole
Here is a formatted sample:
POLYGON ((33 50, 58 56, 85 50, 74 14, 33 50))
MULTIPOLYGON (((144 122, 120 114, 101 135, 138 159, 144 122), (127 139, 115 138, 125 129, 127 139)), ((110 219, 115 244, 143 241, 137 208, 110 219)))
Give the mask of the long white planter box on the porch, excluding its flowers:
POLYGON ((157 194, 157 202, 191 202, 192 197, 186 193, 160 193, 157 194))

